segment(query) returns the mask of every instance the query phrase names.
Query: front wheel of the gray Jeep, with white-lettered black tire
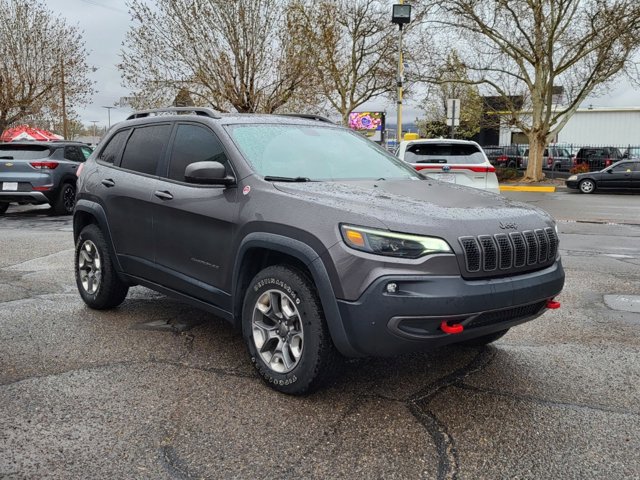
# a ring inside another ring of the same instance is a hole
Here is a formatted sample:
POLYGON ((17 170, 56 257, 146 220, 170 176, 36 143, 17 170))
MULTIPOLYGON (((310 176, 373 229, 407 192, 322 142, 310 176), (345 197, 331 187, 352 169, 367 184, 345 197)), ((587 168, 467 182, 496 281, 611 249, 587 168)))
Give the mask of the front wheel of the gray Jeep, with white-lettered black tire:
POLYGON ((295 268, 271 266, 251 280, 242 307, 242 333, 251 361, 265 383, 275 390, 290 395, 310 393, 323 386, 335 371, 339 357, 331 341, 315 285, 295 268), (280 298, 281 303, 273 302, 271 299, 274 296, 280 298), (267 312, 261 311, 258 300, 261 300, 260 305, 264 309, 268 309, 267 312), (274 304, 277 305, 275 309, 272 306, 274 304), (290 313, 293 308, 294 314, 285 317, 282 313, 285 307, 290 313), (269 335, 274 336, 265 340, 267 329, 258 325, 268 326, 269 335), (289 345, 293 340, 287 340, 291 335, 291 332, 287 333, 287 328, 292 329, 294 334, 298 329, 302 332, 301 336, 295 335, 301 345, 298 359, 294 358, 294 350, 289 345), (259 335, 261 338, 258 338, 259 335), (256 343, 262 343, 261 347, 256 343), (277 346, 283 343, 287 346, 279 353, 277 346), (274 352, 269 352, 272 348, 274 352), (289 367, 285 365, 285 355, 289 367), (274 366, 265 360, 268 356, 271 356, 270 363, 274 363, 274 366), (280 363, 278 359, 281 359, 280 363), (276 368, 278 366, 281 368, 276 368), (287 368, 290 370, 277 371, 287 368))

